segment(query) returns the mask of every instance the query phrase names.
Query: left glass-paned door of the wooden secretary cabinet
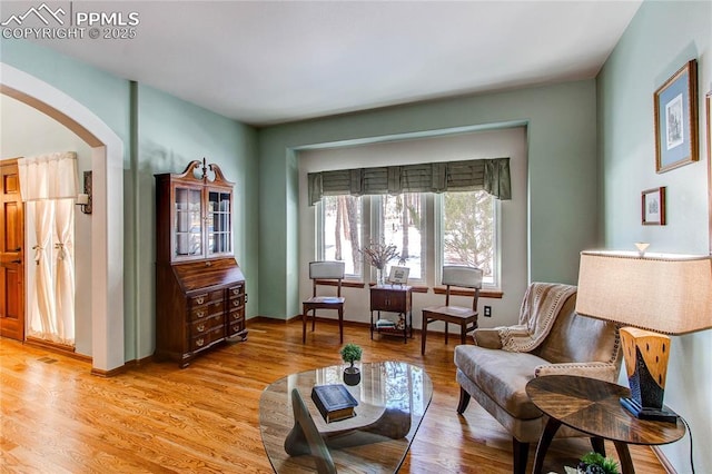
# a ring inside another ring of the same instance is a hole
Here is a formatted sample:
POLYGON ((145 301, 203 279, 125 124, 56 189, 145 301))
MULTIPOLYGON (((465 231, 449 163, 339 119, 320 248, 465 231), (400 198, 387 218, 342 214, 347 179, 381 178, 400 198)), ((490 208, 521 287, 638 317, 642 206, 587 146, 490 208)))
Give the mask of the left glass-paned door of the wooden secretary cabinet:
POLYGON ((174 257, 202 255, 202 218, 200 189, 176 188, 174 257))

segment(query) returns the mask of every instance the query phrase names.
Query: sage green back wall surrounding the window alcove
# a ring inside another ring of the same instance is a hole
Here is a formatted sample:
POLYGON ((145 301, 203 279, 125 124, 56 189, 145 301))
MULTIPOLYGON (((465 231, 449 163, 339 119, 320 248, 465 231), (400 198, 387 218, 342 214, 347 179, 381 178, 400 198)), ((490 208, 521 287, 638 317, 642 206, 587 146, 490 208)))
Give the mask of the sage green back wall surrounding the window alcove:
POLYGON ((528 126, 530 263, 522 265, 528 265, 531 280, 575 283, 578 253, 595 243, 597 229, 593 80, 260 129, 260 315, 299 314, 295 149, 512 122, 528 126))

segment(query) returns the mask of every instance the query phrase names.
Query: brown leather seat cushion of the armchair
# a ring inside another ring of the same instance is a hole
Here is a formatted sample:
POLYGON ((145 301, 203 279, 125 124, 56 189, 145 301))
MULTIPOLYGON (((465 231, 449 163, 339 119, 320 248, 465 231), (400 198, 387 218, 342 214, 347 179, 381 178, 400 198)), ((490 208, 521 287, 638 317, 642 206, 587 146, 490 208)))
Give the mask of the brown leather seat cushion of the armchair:
POLYGON ((525 386, 537 366, 548 362, 530 353, 511 353, 472 345, 455 347, 455 365, 510 415, 520 419, 542 416, 525 386))

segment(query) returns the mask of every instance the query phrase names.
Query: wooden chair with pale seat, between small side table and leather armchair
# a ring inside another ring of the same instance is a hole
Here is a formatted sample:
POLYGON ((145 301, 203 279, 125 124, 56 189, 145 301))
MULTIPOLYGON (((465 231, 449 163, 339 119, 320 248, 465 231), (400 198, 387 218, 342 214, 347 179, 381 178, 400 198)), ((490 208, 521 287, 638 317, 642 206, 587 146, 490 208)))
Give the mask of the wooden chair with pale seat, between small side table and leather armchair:
POLYGON ((449 323, 461 327, 461 344, 466 343, 467 333, 477 328, 477 299, 482 288, 482 270, 475 267, 445 265, 443 267, 443 285, 445 285, 445 305, 423 308, 423 339, 421 354, 425 354, 427 325, 436 320, 445 322, 445 344, 447 344, 447 326, 449 323), (475 290, 472 308, 449 304, 451 287, 472 288, 475 290))

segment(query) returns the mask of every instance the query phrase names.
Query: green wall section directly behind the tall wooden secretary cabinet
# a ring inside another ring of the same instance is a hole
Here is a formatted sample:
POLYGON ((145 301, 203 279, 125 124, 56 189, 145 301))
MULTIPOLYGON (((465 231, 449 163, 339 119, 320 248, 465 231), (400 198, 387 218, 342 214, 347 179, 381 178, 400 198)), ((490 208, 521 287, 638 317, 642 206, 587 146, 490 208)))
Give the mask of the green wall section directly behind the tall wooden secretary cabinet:
MULTIPOLYGON (((137 277, 135 294, 141 318, 137 332, 142 353, 154 352, 155 289, 154 245, 155 179, 159 172, 180 172, 188 162, 206 158, 235 182, 233 207, 235 258, 247 280, 247 293, 257 294, 257 225, 251 210, 257 199, 256 132, 251 127, 221 117, 160 90, 138 87, 138 199, 137 277), (150 349, 150 350, 149 350, 150 349)), ((248 299, 247 315, 257 313, 257 298, 248 299)))

